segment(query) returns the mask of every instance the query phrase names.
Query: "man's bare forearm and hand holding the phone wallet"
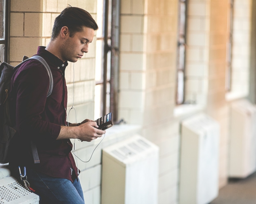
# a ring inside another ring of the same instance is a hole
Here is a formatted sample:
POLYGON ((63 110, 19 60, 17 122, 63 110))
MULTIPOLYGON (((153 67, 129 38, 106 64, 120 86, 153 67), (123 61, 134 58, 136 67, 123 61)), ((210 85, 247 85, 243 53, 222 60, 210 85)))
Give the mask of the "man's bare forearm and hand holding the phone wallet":
POLYGON ((61 126, 60 134, 57 139, 73 138, 91 142, 93 139, 101 137, 106 132, 104 130, 97 129, 97 123, 92 120, 85 119, 82 123, 75 127, 61 126))

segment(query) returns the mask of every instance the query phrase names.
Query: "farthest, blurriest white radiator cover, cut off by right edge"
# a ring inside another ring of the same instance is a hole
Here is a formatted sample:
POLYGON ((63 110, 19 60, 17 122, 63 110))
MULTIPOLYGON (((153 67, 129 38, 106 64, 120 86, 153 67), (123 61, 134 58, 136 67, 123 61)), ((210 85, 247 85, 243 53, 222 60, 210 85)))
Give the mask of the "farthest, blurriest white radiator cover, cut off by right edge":
POLYGON ((230 115, 229 177, 245 178, 256 170, 256 106, 233 102, 230 115))

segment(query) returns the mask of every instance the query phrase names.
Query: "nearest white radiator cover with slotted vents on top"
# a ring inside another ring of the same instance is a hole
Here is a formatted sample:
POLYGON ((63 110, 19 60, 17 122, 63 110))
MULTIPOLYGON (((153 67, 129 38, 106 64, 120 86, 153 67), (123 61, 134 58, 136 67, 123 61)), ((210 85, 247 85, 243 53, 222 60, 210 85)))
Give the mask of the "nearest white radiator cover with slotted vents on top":
POLYGON ((135 135, 104 148, 102 204, 157 204, 159 148, 135 135))

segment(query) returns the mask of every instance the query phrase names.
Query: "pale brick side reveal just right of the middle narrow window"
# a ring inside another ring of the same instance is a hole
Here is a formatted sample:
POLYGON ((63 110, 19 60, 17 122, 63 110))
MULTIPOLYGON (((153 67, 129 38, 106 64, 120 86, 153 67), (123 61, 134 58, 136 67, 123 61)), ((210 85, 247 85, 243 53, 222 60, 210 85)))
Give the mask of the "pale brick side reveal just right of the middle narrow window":
POLYGON ((205 105, 209 69, 210 1, 191 0, 187 9, 185 101, 205 105))

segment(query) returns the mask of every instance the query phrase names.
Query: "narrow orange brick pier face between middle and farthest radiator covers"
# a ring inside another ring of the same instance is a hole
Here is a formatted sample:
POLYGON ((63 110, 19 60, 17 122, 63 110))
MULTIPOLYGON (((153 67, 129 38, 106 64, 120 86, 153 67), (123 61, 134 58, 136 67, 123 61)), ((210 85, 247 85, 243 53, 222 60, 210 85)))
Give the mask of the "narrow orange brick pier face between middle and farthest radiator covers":
POLYGON ((225 100, 227 40, 229 39, 228 0, 210 4, 209 86, 206 113, 220 124, 219 186, 227 184, 229 109, 225 100))

